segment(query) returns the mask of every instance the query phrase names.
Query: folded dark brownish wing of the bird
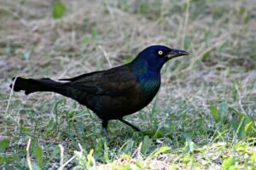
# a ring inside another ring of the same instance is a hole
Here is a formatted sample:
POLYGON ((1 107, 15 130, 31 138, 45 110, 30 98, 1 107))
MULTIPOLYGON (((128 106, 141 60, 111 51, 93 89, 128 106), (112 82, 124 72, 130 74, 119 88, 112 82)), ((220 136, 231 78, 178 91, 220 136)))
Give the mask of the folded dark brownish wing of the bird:
MULTIPOLYGON (((62 79, 63 80, 63 79, 62 79)), ((119 96, 131 92, 137 86, 137 77, 129 65, 108 71, 96 71, 71 79, 64 79, 72 88, 88 94, 119 96)))

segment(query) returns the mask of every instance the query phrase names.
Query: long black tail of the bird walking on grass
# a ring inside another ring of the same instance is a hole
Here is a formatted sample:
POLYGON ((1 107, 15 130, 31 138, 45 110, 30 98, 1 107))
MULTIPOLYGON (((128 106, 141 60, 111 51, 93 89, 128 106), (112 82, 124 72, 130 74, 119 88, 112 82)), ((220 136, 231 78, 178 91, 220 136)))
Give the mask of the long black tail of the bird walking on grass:
POLYGON ((62 95, 67 93, 65 82, 55 82, 49 78, 26 79, 17 77, 14 80, 15 82, 10 85, 10 88, 14 88, 15 92, 24 90, 26 95, 34 92, 55 92, 62 95))

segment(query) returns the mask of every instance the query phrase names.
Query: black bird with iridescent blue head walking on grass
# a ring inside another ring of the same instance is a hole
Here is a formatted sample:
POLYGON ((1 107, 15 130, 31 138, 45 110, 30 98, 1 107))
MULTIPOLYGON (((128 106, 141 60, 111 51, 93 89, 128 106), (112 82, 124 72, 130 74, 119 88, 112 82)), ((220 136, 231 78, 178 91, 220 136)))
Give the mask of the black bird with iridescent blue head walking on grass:
POLYGON ((54 92, 85 105, 102 120, 102 133, 108 138, 108 122, 119 120, 137 132, 140 128, 127 122, 124 116, 142 110, 158 93, 160 70, 170 59, 189 55, 188 52, 163 45, 144 48, 130 63, 104 71, 93 71, 78 77, 13 78, 10 88, 25 94, 54 92))

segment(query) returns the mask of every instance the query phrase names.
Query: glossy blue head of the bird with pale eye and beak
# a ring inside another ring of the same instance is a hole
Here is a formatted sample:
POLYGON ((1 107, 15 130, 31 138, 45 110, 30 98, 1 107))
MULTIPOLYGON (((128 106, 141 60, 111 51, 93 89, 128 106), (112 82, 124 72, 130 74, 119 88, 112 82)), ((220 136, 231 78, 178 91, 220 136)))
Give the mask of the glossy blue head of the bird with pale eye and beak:
POLYGON ((160 71, 166 61, 183 55, 189 55, 189 53, 181 49, 154 45, 143 49, 143 51, 137 55, 137 58, 134 59, 134 62, 144 62, 148 65, 149 69, 160 71))

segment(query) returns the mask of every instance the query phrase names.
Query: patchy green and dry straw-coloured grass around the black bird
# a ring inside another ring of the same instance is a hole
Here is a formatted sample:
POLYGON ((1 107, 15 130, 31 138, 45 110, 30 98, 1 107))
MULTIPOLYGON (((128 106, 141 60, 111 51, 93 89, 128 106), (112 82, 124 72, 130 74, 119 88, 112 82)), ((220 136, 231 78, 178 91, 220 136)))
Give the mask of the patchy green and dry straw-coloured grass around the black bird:
POLYGON ((253 0, 0 3, 1 169, 255 169, 253 0), (169 61, 154 101, 125 117, 143 133, 113 121, 107 144, 86 107, 9 90, 11 77, 108 69, 151 44, 191 54, 169 61))

